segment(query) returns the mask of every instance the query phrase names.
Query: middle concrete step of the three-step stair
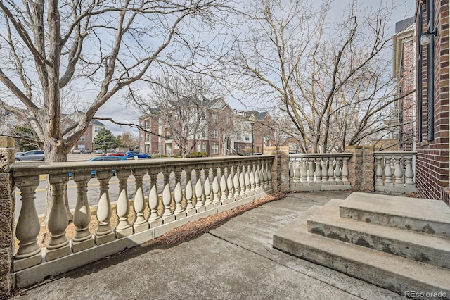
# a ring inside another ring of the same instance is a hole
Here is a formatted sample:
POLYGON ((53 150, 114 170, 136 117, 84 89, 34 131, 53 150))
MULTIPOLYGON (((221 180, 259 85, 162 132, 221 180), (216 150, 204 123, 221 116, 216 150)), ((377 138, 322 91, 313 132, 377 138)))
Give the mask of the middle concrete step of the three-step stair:
POLYGON ((332 199, 309 216, 308 232, 450 269, 450 238, 340 218, 344 202, 332 199))

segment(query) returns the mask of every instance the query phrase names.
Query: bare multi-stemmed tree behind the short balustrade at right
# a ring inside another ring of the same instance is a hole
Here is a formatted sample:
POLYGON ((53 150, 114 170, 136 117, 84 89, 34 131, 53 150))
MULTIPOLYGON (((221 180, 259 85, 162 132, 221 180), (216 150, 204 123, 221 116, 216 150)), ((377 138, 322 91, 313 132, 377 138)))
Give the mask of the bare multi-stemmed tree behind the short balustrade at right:
POLYGON ((249 31, 237 35, 230 71, 240 88, 281 107, 294 123, 304 152, 343 149, 392 130, 397 84, 392 74, 392 6, 361 13, 356 1, 340 23, 304 1, 258 0, 249 31), (274 102, 275 99, 275 102, 274 102))

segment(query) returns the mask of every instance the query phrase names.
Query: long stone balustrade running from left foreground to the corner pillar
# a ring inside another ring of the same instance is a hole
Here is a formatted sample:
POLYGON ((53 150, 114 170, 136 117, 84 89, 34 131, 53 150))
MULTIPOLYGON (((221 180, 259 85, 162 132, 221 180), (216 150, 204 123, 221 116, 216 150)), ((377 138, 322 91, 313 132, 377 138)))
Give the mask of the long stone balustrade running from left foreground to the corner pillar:
POLYGON ((15 227, 19 246, 13 270, 36 268, 46 261, 66 256, 77 256, 63 263, 64 268, 69 268, 66 264, 73 264, 75 268, 80 260, 91 259, 91 254, 83 255, 84 251, 91 251, 96 257, 101 255, 100 251, 105 251, 105 256, 108 256, 111 249, 120 249, 120 246, 110 246, 111 243, 127 245, 123 246, 124 249, 131 240, 147 242, 187 223, 191 217, 198 218, 195 217, 197 213, 210 215, 248 203, 271 192, 273 160, 274 156, 251 156, 93 162, 89 165, 82 162, 41 163, 30 167, 27 164, 13 165, 13 177, 22 203, 15 227), (95 170, 97 186, 89 185, 92 170, 95 170), (75 199, 71 199, 73 194, 66 193, 69 173, 72 173, 76 184, 75 199), (49 177, 53 204, 45 252, 37 242, 40 224, 35 206, 39 175, 43 174, 49 177), (118 194, 114 192, 116 203, 112 205, 110 189, 113 183, 110 180, 114 174, 119 183, 118 194), (134 177, 133 199, 129 199, 127 190, 132 188, 128 183, 131 176, 134 177), (90 189, 98 190, 94 224, 88 201, 88 196, 92 196, 88 193, 90 189), (66 234, 69 222, 65 197, 75 203, 71 225, 75 227, 73 236, 66 234), (134 220, 130 220, 130 208, 134 220), (165 227, 171 223, 174 224, 172 227, 165 227), (134 237, 124 238, 131 235, 134 237), (103 250, 89 250, 96 247, 103 250), (45 253, 44 259, 42 253, 45 253))

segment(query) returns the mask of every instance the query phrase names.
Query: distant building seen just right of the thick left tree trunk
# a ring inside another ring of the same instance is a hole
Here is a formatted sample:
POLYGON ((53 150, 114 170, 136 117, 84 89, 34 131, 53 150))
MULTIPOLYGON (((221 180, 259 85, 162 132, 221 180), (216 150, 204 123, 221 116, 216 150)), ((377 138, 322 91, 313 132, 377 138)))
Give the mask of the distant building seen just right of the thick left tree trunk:
MULTIPOLYGON (((83 114, 84 113, 82 111, 76 111, 75 113, 71 114, 62 114, 61 128, 66 129, 72 125, 77 124, 83 114)), ((87 130, 81 137, 79 137, 78 141, 73 146, 72 151, 84 151, 86 149, 91 151, 94 150, 94 139, 97 136, 97 132, 99 132, 103 127, 105 127, 105 125, 98 120, 91 120, 87 127, 87 130)))

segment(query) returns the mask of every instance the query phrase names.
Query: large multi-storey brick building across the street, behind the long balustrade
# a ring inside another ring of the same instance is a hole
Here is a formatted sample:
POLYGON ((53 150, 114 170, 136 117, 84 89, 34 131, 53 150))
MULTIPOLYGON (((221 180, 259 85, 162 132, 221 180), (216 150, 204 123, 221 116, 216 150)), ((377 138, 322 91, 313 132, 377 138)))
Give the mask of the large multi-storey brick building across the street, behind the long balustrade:
POLYGON ((247 154, 264 151, 263 120, 267 113, 238 112, 224 99, 201 99, 183 103, 168 102, 167 107, 149 108, 139 118, 139 150, 148 154, 181 156, 183 151, 207 152, 210 156, 247 154), (250 123, 255 116, 255 124, 250 123), (183 149, 184 148, 184 149, 183 149))

